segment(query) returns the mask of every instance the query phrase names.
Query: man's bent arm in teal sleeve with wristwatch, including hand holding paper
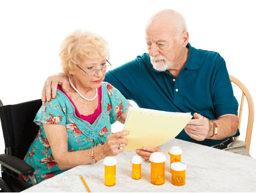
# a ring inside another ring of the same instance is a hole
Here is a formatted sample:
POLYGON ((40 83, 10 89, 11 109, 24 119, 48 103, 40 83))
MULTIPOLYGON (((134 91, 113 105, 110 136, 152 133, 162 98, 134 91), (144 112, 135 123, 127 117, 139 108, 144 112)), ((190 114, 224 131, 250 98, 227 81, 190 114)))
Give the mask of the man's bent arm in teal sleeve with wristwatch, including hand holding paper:
MULTIPOLYGON (((204 139, 221 140, 236 134, 239 121, 237 116, 238 102, 234 97, 232 84, 225 60, 218 54, 215 54, 213 63, 206 65, 210 70, 210 94, 213 101, 215 117, 214 120, 218 126, 218 134, 213 136, 213 123, 202 115, 195 113, 193 120, 190 120, 185 126, 185 132, 193 139, 203 141, 204 139), (212 69, 211 69, 212 68, 212 69)), ((209 74, 207 74, 209 77, 209 74)))

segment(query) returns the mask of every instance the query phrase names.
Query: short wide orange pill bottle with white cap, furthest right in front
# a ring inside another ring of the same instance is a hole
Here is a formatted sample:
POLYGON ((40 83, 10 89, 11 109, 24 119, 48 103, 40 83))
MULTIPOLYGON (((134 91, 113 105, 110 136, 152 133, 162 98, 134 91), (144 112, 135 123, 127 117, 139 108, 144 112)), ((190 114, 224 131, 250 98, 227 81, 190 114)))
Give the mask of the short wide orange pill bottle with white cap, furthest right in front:
POLYGON ((171 184, 175 186, 185 185, 186 164, 183 162, 173 162, 171 164, 171 184))

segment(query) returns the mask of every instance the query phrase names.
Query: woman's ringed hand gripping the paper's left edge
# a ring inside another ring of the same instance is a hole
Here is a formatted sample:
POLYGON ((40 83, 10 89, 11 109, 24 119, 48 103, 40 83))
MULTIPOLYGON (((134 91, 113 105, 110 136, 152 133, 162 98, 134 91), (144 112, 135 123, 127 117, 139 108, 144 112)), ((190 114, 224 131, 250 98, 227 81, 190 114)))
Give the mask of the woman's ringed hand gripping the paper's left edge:
POLYGON ((105 156, 116 156, 125 150, 124 147, 127 145, 127 140, 122 138, 125 135, 129 135, 129 131, 118 131, 107 136, 107 140, 103 145, 105 156), (122 145, 122 149, 119 149, 120 144, 122 145))

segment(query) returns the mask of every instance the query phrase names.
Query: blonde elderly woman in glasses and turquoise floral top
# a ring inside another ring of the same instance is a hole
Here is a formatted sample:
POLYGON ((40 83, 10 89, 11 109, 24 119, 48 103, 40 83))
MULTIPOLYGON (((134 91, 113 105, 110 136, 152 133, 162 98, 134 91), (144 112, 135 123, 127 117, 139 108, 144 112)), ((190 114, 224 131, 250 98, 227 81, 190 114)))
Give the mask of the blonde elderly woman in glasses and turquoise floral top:
POLYGON ((121 153, 127 145, 122 136, 129 134, 111 134, 111 124, 124 123, 131 105, 103 82, 111 67, 107 42, 77 30, 63 40, 60 58, 73 90, 65 93, 58 86, 56 98, 43 103, 34 120, 40 129, 24 161, 35 168, 38 182, 121 153))

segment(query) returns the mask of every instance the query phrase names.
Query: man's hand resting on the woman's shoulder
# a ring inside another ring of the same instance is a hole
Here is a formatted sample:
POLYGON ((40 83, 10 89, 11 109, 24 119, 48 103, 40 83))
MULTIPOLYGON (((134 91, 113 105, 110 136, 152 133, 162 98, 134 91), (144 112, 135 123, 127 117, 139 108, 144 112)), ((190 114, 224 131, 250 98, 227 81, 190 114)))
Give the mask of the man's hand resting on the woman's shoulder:
POLYGON ((46 102, 56 97, 57 86, 61 85, 62 89, 65 93, 68 93, 72 88, 70 87, 70 83, 68 82, 68 78, 65 73, 57 73, 51 75, 45 80, 42 89, 42 101, 46 102))

